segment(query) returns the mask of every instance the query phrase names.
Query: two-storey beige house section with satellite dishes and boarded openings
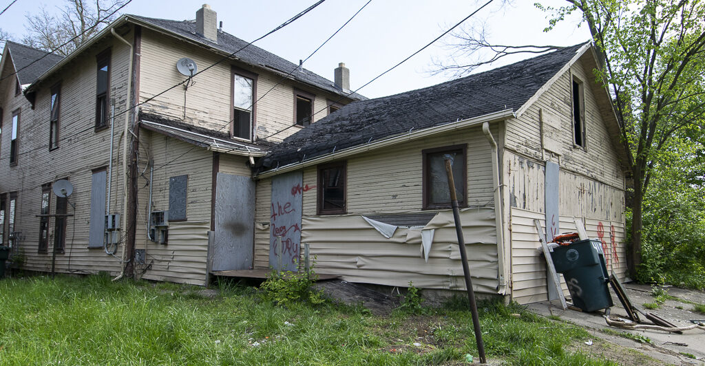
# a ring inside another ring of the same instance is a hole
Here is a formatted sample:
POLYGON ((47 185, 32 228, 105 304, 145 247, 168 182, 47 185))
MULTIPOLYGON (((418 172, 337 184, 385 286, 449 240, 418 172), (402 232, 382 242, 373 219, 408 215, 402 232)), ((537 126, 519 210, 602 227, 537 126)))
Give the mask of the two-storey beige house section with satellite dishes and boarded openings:
POLYGON ((250 165, 364 99, 348 95, 344 65, 337 84, 298 68, 219 30, 206 5, 195 21, 123 15, 66 58, 44 55, 8 42, 0 70, 2 243, 40 272, 53 248, 57 272, 130 263, 146 279, 204 284, 209 231, 212 248, 237 253, 219 258, 252 267, 250 165), (192 79, 177 70, 184 57, 192 79), (59 179, 68 198, 52 192, 59 179))

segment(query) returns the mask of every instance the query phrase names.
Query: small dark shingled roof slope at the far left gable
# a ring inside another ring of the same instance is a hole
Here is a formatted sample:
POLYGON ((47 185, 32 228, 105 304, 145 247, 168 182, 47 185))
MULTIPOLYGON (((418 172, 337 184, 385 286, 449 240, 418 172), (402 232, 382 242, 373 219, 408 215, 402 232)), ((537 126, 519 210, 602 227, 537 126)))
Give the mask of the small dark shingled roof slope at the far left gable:
POLYGON ((30 46, 25 46, 24 44, 19 44, 12 41, 7 41, 5 46, 10 52, 10 57, 15 65, 15 70, 20 80, 20 84, 23 85, 32 84, 32 82, 35 82, 39 76, 42 76, 44 72, 47 72, 47 70, 56 65, 56 63, 59 63, 59 61, 63 58, 62 56, 55 55, 54 53, 33 49, 30 46), (44 55, 47 56, 42 58, 44 55), (39 60, 39 58, 42 59, 39 60), (34 61, 37 62, 32 63, 34 61))

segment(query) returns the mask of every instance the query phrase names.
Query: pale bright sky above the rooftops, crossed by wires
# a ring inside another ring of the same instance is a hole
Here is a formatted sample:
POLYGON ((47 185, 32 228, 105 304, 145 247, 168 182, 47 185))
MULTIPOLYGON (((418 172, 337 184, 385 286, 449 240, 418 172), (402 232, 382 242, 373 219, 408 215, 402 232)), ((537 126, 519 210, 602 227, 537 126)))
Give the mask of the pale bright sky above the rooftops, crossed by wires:
MULTIPOLYGON (((262 37, 293 15, 311 6, 315 0, 133 0, 121 13, 173 20, 195 19, 195 12, 207 1, 223 22, 223 31, 245 41, 262 37)), ((497 44, 551 44, 572 46, 590 39, 580 18, 573 16, 551 32, 546 13, 533 5, 539 0, 495 0, 466 23, 482 27, 486 37, 497 44)), ((0 0, 0 11, 12 0, 0 0)), ((440 34, 470 15, 485 1, 475 0, 372 0, 325 46, 304 63, 304 68, 333 80, 338 63, 350 69, 350 89, 362 87, 404 58, 431 42, 440 34)), ((288 61, 298 63, 317 49, 367 0, 326 0, 302 18, 255 43, 288 61)), ((564 0, 543 0, 546 6, 563 6, 564 0)), ((26 15, 44 8, 58 13, 63 1, 17 0, 0 15, 0 28, 16 40, 25 34, 26 15)), ((434 75, 434 60, 448 60, 452 49, 437 42, 358 92, 370 98, 428 87, 453 78, 434 75)), ((188 56, 188 55, 184 55, 188 56)), ((477 57, 477 56, 474 56, 477 57)), ((477 71, 489 70, 519 61, 529 55, 506 58, 477 71)), ((175 60, 176 63, 176 60, 175 60)))

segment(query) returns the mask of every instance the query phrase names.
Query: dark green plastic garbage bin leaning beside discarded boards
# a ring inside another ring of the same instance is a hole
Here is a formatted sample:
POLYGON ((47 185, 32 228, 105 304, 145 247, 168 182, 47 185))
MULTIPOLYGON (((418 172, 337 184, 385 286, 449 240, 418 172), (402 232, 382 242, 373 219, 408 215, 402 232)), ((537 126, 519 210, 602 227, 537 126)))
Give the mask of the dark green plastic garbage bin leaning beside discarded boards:
POLYGON ((575 306, 591 312, 614 305, 599 241, 587 239, 568 246, 559 246, 553 249, 551 259, 556 272, 563 274, 575 306))

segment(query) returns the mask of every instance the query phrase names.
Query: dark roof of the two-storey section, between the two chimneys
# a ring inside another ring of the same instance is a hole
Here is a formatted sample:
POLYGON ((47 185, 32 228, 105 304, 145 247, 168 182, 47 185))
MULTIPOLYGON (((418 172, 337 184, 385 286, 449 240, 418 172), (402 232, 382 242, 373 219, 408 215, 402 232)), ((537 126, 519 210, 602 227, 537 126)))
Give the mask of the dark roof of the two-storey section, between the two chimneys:
MULTIPOLYGON (((254 65, 259 68, 268 68, 271 70, 276 70, 278 72, 283 72, 284 74, 288 74, 289 72, 291 72, 291 70, 294 70, 298 67, 298 65, 290 63, 289 61, 286 61, 285 59, 276 56, 274 53, 265 51, 264 49, 260 49, 254 44, 250 44, 250 46, 247 46, 249 42, 245 42, 242 39, 233 36, 232 34, 228 34, 227 32, 218 32, 217 43, 212 42, 207 38, 201 37, 200 35, 196 34, 195 20, 167 20, 147 18, 140 15, 127 16, 129 18, 141 20, 142 22, 147 23, 149 25, 153 25, 154 27, 159 27, 163 30, 168 30, 169 32, 178 34, 181 37, 191 39, 195 42, 207 44, 208 46, 212 46, 213 48, 219 49, 226 53, 233 53, 242 49, 238 51, 238 53, 236 53, 234 57, 238 58, 244 63, 254 65), (245 48, 243 49, 243 47, 245 48)), ((314 87, 319 87, 320 89, 324 89, 333 94, 345 96, 353 100, 367 99, 357 93, 348 96, 348 93, 343 92, 343 90, 341 89, 338 89, 336 85, 331 82, 331 80, 328 80, 325 77, 321 77, 320 75, 314 74, 313 72, 306 69, 295 70, 289 77, 292 77, 298 82, 305 82, 307 84, 313 85, 314 87)))

